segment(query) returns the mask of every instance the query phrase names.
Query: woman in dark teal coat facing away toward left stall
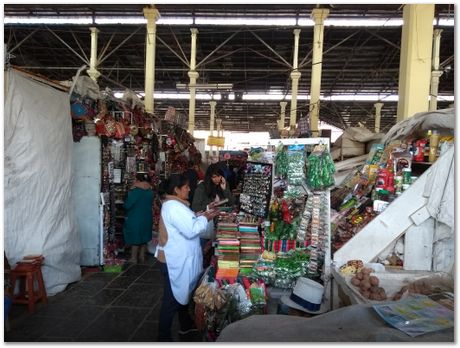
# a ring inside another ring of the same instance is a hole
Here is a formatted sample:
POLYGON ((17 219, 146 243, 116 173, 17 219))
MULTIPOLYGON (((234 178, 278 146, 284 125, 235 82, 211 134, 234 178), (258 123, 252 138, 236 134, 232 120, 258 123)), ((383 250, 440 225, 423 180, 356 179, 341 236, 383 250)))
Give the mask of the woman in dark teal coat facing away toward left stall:
POLYGON ((124 203, 126 219, 123 225, 125 243, 131 245, 130 262, 145 262, 147 242, 152 239, 153 190, 147 174, 138 173, 124 203))

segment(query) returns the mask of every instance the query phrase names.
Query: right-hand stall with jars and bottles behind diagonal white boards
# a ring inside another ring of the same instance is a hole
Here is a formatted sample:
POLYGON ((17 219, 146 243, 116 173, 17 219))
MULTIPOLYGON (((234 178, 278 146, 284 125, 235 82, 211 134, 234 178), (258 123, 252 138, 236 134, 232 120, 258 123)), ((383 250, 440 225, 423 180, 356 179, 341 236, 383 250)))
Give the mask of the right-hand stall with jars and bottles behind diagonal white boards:
POLYGON ((396 125, 332 193, 334 308, 377 300, 356 279, 359 262, 386 291, 378 300, 417 279, 453 291, 453 120, 451 109, 396 125))

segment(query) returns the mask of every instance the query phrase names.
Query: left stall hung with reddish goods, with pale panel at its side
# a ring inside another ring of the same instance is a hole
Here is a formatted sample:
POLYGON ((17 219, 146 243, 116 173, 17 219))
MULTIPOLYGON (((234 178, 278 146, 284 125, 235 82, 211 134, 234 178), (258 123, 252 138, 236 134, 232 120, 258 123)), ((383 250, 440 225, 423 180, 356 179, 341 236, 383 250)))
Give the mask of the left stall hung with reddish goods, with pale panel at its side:
POLYGON ((122 98, 96 92, 97 85, 81 77, 70 97, 77 178, 74 201, 84 244, 81 264, 119 269, 126 259, 123 204, 136 174, 148 174, 154 189, 153 245, 160 180, 172 172, 185 172, 190 160, 201 162, 201 154, 174 108, 160 119, 146 113, 132 92, 126 91, 122 98))

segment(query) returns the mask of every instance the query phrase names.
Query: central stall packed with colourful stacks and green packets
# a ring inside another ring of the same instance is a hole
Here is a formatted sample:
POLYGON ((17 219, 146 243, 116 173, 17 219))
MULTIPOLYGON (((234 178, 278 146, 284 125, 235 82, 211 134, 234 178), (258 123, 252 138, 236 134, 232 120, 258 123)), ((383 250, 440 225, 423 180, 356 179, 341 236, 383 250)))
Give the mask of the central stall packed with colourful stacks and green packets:
POLYGON ((320 289, 313 314, 329 306, 328 139, 271 140, 264 152, 245 164, 239 210, 216 224, 214 261, 194 297, 207 340, 231 322, 276 313, 300 278, 320 289))

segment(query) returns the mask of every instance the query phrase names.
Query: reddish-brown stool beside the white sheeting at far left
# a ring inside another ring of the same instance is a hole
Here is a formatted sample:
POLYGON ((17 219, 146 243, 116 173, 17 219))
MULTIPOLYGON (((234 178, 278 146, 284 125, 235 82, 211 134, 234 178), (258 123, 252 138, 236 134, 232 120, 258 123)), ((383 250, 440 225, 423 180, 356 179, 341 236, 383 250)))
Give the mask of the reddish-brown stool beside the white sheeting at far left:
POLYGON ((11 286, 16 289, 16 281, 19 281, 19 293, 13 295, 13 303, 27 304, 29 313, 35 312, 35 303, 42 301, 48 303, 45 283, 42 276, 43 256, 26 256, 11 270, 11 286), (38 291, 34 289, 34 281, 38 283, 38 291))

